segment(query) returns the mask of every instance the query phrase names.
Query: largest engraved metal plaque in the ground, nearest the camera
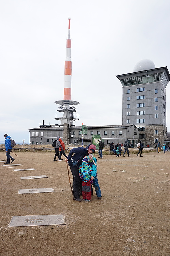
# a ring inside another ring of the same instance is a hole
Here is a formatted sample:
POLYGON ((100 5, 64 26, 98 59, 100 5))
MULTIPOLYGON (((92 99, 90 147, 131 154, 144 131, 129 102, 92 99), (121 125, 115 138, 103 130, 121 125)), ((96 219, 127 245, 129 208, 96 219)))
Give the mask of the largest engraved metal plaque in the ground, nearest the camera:
POLYGON ((46 226, 66 224, 64 215, 13 216, 8 227, 46 226))

